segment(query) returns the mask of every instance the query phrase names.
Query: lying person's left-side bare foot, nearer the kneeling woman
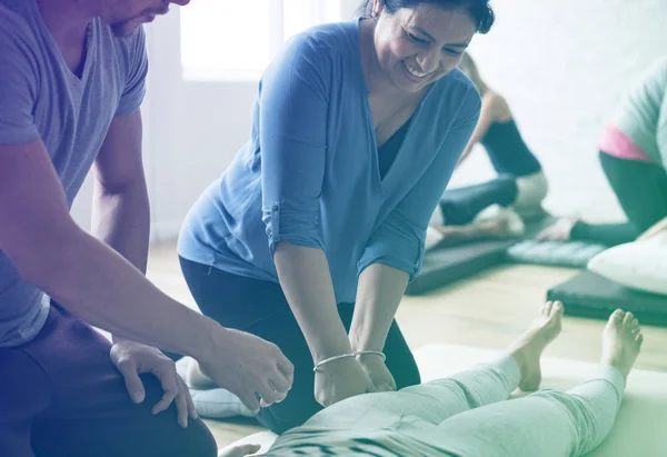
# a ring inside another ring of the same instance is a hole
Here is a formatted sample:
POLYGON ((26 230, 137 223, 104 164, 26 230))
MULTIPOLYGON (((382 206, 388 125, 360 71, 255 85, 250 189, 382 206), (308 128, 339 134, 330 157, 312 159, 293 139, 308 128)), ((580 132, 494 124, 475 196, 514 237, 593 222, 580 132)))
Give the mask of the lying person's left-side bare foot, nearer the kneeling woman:
POLYGON ((560 334, 563 304, 547 301, 528 331, 509 346, 508 352, 515 358, 521 371, 519 389, 532 391, 539 388, 541 383, 539 359, 549 342, 560 334))

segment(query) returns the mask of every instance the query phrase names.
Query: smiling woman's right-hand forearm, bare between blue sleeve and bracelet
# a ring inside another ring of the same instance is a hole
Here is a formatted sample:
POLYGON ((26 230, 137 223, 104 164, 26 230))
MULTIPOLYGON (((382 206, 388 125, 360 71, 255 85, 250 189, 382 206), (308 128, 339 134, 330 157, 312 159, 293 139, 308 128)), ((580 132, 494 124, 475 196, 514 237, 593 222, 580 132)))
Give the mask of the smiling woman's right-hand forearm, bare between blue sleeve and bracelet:
POLYGON ((408 280, 407 272, 384 264, 372 264, 361 272, 350 327, 352 350, 384 349, 408 280))

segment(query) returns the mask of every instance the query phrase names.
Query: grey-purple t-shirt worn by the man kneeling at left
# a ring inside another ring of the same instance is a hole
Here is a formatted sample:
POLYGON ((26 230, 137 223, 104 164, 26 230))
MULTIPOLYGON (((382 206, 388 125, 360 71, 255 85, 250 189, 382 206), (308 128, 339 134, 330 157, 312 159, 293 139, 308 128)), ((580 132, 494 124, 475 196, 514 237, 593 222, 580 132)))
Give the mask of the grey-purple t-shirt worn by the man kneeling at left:
MULTIPOLYGON (((148 71, 145 44, 141 29, 118 38, 96 18, 78 78, 36 0, 0 0, 0 145, 41 138, 70 207, 113 117, 141 105, 148 71)), ((0 347, 30 341, 48 311, 48 297, 23 280, 0 251, 0 347)))

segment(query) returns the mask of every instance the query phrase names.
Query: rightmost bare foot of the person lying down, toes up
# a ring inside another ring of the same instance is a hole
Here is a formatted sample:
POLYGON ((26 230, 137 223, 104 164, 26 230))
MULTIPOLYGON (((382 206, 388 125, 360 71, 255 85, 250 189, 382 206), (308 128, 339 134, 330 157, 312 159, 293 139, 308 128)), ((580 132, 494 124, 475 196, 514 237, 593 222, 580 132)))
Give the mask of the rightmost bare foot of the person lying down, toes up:
POLYGON ((631 312, 617 309, 603 331, 603 364, 616 368, 627 378, 641 349, 644 335, 631 312))

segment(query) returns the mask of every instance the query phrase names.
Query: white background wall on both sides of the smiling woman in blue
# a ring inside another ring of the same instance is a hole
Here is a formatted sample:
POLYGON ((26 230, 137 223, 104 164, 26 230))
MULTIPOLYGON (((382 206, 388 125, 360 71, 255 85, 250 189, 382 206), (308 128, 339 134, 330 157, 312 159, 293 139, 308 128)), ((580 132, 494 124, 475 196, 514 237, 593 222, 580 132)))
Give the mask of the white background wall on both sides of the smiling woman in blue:
MULTIPOLYGON (((351 17, 357 0, 342 0, 351 17)), ((551 182, 547 206, 593 219, 620 211, 596 159, 609 111, 634 77, 667 52, 665 0, 495 0, 498 21, 471 47, 488 82, 505 95, 551 182)), ((187 82, 179 68, 179 14, 150 28, 145 141, 153 239, 171 238, 191 203, 250 135, 256 82, 187 82)), ((220 52, 225 50, 221 49, 220 52)), ((492 176, 481 151, 452 185, 492 176)), ((90 193, 74 205, 88 220, 90 193)))

